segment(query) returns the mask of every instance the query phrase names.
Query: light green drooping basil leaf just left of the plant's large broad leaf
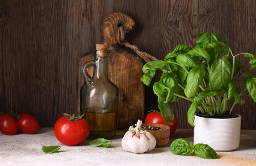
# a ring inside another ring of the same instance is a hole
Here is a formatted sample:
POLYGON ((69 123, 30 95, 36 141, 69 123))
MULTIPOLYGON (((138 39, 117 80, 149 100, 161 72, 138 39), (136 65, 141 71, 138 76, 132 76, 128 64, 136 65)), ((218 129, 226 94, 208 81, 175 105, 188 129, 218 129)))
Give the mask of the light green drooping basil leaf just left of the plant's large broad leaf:
POLYGON ((194 96, 199 91, 199 85, 206 75, 204 64, 200 64, 198 68, 192 68, 187 77, 187 86, 185 87, 185 96, 188 98, 194 96))

